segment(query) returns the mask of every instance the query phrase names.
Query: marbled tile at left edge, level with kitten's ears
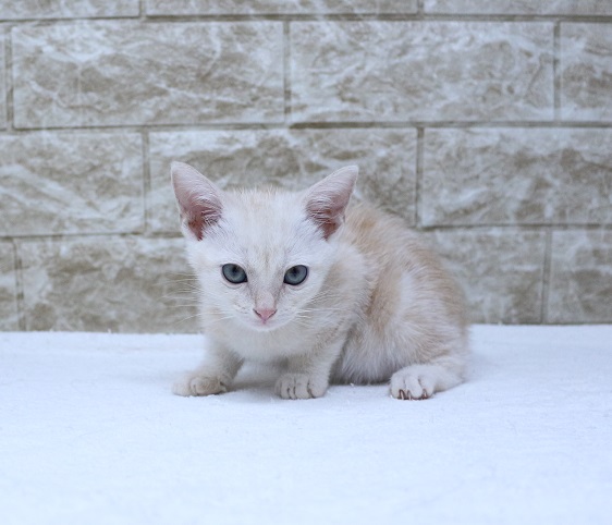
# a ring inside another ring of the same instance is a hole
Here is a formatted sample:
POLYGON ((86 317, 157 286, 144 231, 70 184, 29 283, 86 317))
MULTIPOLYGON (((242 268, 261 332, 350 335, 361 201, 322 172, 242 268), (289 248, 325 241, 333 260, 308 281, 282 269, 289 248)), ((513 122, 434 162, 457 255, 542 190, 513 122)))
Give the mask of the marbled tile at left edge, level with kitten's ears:
POLYGON ((143 230, 143 176, 139 134, 0 136, 0 234, 143 230))

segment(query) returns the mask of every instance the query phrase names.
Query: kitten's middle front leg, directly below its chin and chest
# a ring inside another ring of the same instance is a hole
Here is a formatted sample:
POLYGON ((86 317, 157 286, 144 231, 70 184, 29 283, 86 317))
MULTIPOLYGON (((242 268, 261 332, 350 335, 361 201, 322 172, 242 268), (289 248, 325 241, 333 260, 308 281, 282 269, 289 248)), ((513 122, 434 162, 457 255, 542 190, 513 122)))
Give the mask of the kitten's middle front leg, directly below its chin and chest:
POLYGON ((290 357, 287 371, 277 381, 277 394, 285 400, 321 398, 329 387, 329 378, 338 361, 344 339, 325 349, 290 357))

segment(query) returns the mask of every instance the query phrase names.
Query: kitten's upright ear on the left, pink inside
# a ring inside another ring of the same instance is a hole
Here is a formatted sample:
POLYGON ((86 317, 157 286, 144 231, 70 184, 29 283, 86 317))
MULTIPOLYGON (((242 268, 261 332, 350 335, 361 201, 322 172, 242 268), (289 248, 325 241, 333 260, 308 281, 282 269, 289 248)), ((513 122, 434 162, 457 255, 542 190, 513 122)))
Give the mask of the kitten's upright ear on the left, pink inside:
POLYGON ((206 229, 221 218, 222 192, 199 171, 184 162, 172 162, 170 172, 183 233, 201 241, 206 229))

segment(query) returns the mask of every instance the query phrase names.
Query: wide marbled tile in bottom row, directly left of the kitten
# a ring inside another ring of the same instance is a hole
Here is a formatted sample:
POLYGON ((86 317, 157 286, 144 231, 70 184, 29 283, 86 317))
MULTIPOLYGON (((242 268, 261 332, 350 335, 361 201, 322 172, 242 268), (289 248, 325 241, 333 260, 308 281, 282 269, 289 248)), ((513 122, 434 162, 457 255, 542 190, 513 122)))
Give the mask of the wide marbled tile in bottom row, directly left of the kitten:
POLYGON ((27 330, 197 330, 181 239, 22 241, 27 330))

